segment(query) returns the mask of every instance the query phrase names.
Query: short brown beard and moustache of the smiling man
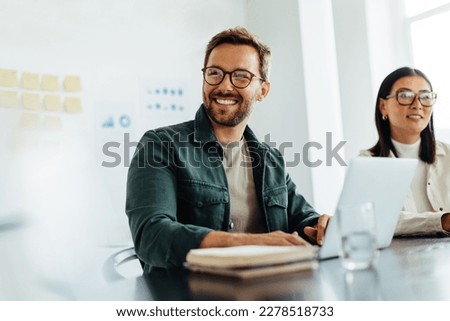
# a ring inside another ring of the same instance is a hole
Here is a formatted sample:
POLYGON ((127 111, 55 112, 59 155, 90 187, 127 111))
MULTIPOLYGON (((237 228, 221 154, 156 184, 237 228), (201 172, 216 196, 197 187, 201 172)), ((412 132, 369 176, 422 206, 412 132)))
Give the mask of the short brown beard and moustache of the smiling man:
POLYGON ((214 98, 211 98, 211 96, 212 95, 210 94, 209 99, 207 99, 205 93, 203 92, 203 104, 205 105, 206 113, 213 122, 226 127, 235 127, 239 125, 244 119, 246 119, 250 115, 250 112, 252 110, 252 104, 254 103, 253 101, 245 101, 240 98, 239 100, 241 106, 235 112, 230 114, 227 118, 223 118, 220 116, 223 116, 229 112, 228 110, 226 110, 227 107, 224 106, 220 109, 218 109, 217 107, 214 108, 211 107, 212 102, 214 101, 214 99, 217 98, 227 99, 227 98, 236 98, 236 96, 226 94, 214 95, 214 98))

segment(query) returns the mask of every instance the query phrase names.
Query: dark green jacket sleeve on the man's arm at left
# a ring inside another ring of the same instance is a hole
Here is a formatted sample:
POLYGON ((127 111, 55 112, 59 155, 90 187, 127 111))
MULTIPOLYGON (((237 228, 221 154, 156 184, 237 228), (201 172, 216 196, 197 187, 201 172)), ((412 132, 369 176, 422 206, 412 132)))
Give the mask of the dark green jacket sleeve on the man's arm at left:
POLYGON ((126 213, 136 253, 148 265, 180 266, 211 229, 182 224, 177 218, 176 168, 170 144, 153 131, 141 139, 130 164, 126 213))

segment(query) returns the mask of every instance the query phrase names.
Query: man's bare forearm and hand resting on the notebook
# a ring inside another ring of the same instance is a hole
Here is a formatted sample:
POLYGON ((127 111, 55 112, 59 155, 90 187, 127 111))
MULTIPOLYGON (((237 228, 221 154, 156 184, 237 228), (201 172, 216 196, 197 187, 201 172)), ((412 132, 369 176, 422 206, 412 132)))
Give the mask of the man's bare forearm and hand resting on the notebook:
POLYGON ((290 234, 275 231, 270 233, 248 234, 212 231, 203 238, 199 247, 228 247, 238 245, 309 245, 309 243, 298 236, 297 232, 290 234))

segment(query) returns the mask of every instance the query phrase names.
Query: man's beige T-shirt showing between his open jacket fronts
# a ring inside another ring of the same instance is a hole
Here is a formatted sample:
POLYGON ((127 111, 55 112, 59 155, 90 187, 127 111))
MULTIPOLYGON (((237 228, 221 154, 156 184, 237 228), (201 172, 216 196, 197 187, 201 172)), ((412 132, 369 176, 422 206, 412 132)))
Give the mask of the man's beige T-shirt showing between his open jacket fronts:
POLYGON ((223 146, 223 156, 230 193, 232 232, 266 232, 256 196, 247 143, 242 139, 223 146))

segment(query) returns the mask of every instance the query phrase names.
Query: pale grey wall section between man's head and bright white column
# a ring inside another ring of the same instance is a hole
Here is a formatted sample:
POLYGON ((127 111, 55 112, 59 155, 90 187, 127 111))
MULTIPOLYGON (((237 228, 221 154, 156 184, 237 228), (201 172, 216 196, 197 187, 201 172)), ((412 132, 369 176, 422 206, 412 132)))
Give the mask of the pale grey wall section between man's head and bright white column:
POLYGON ((267 99, 255 108, 251 125, 258 136, 270 135, 271 142, 284 149, 288 171, 298 190, 313 201, 311 172, 295 154, 303 154, 308 142, 302 42, 299 7, 296 0, 249 1, 248 27, 272 50, 271 90, 267 99), (291 165, 289 165, 291 164, 291 165))

